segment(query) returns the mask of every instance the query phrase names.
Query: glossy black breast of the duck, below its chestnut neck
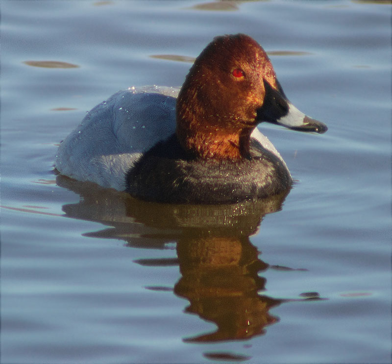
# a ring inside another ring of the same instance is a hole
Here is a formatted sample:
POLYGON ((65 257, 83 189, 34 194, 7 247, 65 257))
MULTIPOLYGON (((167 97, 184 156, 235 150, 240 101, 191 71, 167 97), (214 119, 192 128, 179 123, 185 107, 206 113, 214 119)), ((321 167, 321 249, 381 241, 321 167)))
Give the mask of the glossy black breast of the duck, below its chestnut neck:
POLYGON ((188 157, 175 135, 158 143, 126 175, 127 192, 155 202, 222 204, 257 199, 291 188, 279 158, 252 140, 240 161, 188 157))

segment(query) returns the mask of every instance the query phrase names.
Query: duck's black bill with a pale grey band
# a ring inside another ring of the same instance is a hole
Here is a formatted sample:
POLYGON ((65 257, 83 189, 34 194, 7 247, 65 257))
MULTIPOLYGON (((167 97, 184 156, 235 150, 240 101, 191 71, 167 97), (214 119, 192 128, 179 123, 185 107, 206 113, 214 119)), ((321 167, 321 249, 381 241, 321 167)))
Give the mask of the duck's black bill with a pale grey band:
POLYGON ((277 82, 278 90, 275 90, 264 80, 266 91, 263 105, 257 110, 258 122, 270 122, 279 124, 289 129, 298 131, 325 133, 327 126, 316 119, 312 119, 299 111, 285 96, 282 87, 277 82))

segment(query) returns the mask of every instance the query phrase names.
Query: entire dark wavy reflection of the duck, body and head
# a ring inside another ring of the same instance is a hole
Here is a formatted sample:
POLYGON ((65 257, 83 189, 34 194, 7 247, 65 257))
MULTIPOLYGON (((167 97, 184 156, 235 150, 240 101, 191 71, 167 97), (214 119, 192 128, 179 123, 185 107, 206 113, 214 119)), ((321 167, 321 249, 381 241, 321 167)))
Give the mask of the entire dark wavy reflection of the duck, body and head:
POLYGON ((106 229, 84 234, 122 239, 128 246, 164 248, 176 243, 177 260, 144 259, 147 266, 178 264, 174 293, 189 300, 186 312, 214 322, 217 330, 185 341, 244 340, 278 321, 270 309, 283 302, 259 294, 269 265, 249 241, 267 213, 281 209, 286 194, 234 205, 170 205, 137 201, 127 194, 57 176, 59 186, 80 195, 63 206, 68 217, 101 222, 106 229))

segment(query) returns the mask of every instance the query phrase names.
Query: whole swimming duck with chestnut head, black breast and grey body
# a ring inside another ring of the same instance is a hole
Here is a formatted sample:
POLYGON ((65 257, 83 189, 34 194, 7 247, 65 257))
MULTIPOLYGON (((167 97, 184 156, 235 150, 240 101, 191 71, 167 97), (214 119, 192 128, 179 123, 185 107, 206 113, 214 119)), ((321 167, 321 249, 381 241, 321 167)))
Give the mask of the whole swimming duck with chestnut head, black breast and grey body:
POLYGON ((253 38, 218 36, 181 88, 130 87, 94 107, 61 142, 55 170, 151 202, 270 197, 289 191, 293 178, 262 122, 327 131, 288 100, 253 38))

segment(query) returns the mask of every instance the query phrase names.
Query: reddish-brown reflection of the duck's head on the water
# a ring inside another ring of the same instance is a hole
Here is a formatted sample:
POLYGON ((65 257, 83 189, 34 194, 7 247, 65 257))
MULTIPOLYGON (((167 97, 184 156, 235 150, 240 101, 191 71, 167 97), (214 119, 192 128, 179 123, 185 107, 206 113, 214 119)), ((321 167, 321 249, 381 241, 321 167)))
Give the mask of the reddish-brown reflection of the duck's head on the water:
POLYGON ((214 333, 186 341, 248 339, 277 322, 269 314, 279 300, 260 296, 268 265, 258 259, 248 237, 199 237, 177 243, 181 279, 174 292, 191 303, 187 312, 214 322, 214 333))

